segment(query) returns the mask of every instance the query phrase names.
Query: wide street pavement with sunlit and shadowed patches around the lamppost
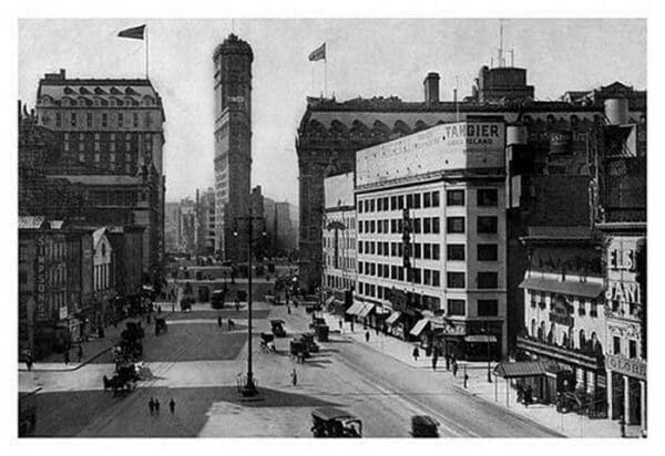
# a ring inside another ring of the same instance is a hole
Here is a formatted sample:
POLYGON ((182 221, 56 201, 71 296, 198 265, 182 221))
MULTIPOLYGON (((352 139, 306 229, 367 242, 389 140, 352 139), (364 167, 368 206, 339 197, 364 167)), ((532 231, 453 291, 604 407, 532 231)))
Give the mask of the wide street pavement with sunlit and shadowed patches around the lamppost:
POLYGON ((277 354, 253 343, 260 401, 243 402, 237 375, 246 371, 245 312, 205 310, 168 314, 168 331, 146 331, 145 365, 152 380, 126 396, 104 392, 102 376, 113 365, 106 355, 69 372, 21 372, 22 383, 41 386, 37 436, 282 436, 310 437, 310 412, 332 405, 357 415, 366 437, 408 437, 410 417, 433 416, 446 437, 548 437, 542 426, 507 414, 452 386, 449 376, 417 370, 387 354, 331 334, 319 353, 303 365, 288 355, 288 341, 307 330, 303 308, 255 305, 255 333, 269 329, 270 318, 286 321, 287 338, 277 339, 277 354), (223 328, 217 327, 222 315, 223 328), (226 321, 236 323, 228 331, 226 321), (296 369, 294 386, 290 372, 296 369), (161 410, 151 415, 151 397, 161 410), (175 401, 175 413, 167 403, 175 401))

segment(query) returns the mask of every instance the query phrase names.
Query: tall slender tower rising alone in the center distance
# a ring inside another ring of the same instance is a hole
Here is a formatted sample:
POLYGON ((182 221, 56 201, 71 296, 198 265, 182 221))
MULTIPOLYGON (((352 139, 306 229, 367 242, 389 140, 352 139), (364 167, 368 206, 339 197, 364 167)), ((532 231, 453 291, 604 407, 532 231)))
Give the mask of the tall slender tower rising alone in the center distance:
POLYGON ((215 222, 216 247, 225 260, 244 261, 247 239, 237 217, 250 205, 252 62, 247 42, 229 34, 215 49, 215 222))

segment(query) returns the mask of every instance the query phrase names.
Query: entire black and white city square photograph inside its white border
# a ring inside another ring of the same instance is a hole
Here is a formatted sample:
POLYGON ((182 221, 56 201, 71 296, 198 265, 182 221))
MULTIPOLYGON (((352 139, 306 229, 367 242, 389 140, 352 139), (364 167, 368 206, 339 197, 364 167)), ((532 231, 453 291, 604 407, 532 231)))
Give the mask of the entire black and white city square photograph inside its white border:
POLYGON ((12 438, 647 438, 649 20, 376 14, 13 19, 12 438))

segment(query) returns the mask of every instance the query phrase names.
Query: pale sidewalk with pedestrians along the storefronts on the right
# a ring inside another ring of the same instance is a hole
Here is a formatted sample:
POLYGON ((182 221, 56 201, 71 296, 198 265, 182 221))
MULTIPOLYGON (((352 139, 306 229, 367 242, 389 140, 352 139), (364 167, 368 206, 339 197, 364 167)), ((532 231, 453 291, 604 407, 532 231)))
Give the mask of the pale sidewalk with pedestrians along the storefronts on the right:
MULTIPOLYGON (((325 313, 327 324, 331 331, 339 332, 340 317, 325 313)), ((362 324, 355 324, 354 331, 350 331, 350 323, 344 322, 341 335, 354 340, 358 343, 365 343, 374 350, 385 353, 395 360, 408 365, 409 367, 429 371, 432 375, 431 356, 424 355, 424 350, 420 350, 420 357, 416 361, 412 357, 415 343, 405 342, 391 335, 377 335, 375 329, 368 328, 365 330, 362 324), (369 331, 369 342, 365 341, 365 332, 369 331)), ((621 437, 620 425, 612 419, 590 419, 586 416, 577 415, 576 413, 561 414, 556 412, 553 405, 535 404, 524 407, 523 404, 516 402, 516 391, 508 387, 507 402, 507 384, 501 377, 492 375, 492 383, 488 383, 488 364, 487 362, 458 362, 459 372, 457 376, 452 375, 451 371, 446 370, 446 360, 439 357, 436 374, 440 374, 446 382, 451 384, 462 394, 484 400, 498 407, 505 410, 516 416, 522 416, 542 426, 545 426, 554 432, 557 432, 566 437, 621 437), (469 375, 467 388, 464 388, 464 370, 469 375)), ((491 363, 493 371, 497 363, 491 363)), ((640 435, 637 426, 626 426, 626 434, 630 437, 640 435)))

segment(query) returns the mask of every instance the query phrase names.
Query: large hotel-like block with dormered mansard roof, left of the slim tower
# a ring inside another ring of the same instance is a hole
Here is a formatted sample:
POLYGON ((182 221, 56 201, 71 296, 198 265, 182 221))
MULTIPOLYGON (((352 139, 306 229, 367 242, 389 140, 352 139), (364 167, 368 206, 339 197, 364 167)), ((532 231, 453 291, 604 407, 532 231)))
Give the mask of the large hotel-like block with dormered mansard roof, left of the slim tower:
POLYGON ((151 81, 45 74, 37 117, 58 144, 59 156, 48 157, 48 180, 66 182, 88 197, 88 222, 142 226, 143 268, 156 273, 164 248, 165 117, 151 81))

